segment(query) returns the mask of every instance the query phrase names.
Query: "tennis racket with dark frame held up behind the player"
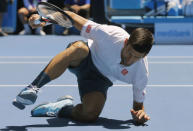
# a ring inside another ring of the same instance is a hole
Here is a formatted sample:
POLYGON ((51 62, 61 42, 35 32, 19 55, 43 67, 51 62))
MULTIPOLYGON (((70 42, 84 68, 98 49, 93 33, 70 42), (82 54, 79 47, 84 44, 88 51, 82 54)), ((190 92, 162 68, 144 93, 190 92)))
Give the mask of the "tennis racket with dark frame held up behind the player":
POLYGON ((47 2, 39 2, 36 6, 36 9, 41 18, 35 20, 35 24, 40 24, 41 22, 48 22, 52 24, 58 24, 66 28, 70 28, 73 26, 72 18, 68 14, 66 14, 62 9, 53 4, 47 2))

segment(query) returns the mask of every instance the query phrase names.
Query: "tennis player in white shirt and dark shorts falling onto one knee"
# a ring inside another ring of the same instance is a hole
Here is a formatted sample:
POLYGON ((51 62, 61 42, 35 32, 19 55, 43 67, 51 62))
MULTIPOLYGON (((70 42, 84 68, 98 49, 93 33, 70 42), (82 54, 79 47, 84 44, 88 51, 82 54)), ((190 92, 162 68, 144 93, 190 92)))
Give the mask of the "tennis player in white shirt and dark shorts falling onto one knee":
MULTIPOLYGON (((73 98, 65 96, 56 102, 35 107, 31 111, 32 116, 68 117, 80 122, 94 122, 103 109, 108 88, 113 81, 120 80, 133 85, 133 108, 130 110, 133 119, 138 123, 148 121, 150 117, 143 103, 148 82, 146 55, 153 45, 152 33, 137 28, 128 34, 120 27, 101 25, 70 11, 66 13, 88 42, 70 43, 18 94, 16 101, 23 105, 33 104, 38 90, 68 68, 77 76, 81 103, 74 106, 73 98)), ((34 21, 39 17, 34 14, 29 18, 32 28, 46 24, 35 25, 34 21)), ((20 108, 18 103, 13 104, 20 108)))

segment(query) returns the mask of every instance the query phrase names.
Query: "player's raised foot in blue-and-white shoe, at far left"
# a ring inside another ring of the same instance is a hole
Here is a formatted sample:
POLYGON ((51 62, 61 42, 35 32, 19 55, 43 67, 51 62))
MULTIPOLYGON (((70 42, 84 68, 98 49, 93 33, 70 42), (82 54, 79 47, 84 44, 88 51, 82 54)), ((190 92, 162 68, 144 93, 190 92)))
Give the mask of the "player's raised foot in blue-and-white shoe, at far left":
POLYGON ((19 109, 24 109, 25 105, 32 105, 37 99, 39 88, 33 85, 25 87, 13 101, 13 105, 19 109))

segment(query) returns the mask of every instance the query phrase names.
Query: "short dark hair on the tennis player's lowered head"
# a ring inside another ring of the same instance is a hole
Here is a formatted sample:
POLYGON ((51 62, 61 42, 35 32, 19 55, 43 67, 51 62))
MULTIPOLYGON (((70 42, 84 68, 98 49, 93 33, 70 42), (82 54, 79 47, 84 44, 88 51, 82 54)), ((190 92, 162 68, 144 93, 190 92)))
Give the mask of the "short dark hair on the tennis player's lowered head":
POLYGON ((132 31, 128 43, 140 53, 148 54, 153 45, 153 34, 145 28, 137 28, 132 31))

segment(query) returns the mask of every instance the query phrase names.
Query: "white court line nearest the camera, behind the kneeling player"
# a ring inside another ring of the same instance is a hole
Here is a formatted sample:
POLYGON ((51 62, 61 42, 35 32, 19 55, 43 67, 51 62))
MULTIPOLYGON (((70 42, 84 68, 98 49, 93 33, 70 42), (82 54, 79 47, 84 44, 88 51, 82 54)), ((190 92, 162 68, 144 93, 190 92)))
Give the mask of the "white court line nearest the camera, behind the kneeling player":
MULTIPOLYGON (((0 87, 26 87, 28 85, 0 85, 0 87)), ((45 87, 77 87, 78 85, 45 85, 45 87)), ((132 87, 132 85, 113 85, 113 87, 132 87)), ((147 87, 193 87, 193 85, 147 85, 147 87)))

